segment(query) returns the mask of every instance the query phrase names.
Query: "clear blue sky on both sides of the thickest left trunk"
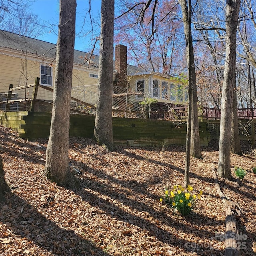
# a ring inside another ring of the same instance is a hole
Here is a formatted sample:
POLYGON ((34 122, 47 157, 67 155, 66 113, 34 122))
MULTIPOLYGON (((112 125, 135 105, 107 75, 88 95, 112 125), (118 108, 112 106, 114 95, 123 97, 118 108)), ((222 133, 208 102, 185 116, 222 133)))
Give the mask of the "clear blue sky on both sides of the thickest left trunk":
MULTIPOLYGON (((92 44, 94 43, 91 40, 91 36, 85 36, 87 32, 91 30, 89 26, 89 16, 86 12, 89 9, 88 0, 77 0, 76 7, 76 33, 83 31, 80 35, 76 36, 75 40, 75 49, 82 51, 89 51, 92 48, 92 44), (86 16, 86 23, 84 24, 84 18, 86 16), (83 25, 84 24, 84 25, 83 25)), ((91 0, 91 8, 92 8, 92 17, 100 22, 100 0, 91 0)), ((44 40, 46 42, 51 42, 56 44, 58 38, 58 20, 59 20, 59 1, 58 0, 35 0, 32 2, 30 7, 31 11, 34 14, 38 15, 38 18, 44 22, 47 26, 45 29, 45 33, 38 37, 40 40, 44 40)), ((99 34, 100 30, 97 29, 97 24, 94 25, 95 36, 99 34)))

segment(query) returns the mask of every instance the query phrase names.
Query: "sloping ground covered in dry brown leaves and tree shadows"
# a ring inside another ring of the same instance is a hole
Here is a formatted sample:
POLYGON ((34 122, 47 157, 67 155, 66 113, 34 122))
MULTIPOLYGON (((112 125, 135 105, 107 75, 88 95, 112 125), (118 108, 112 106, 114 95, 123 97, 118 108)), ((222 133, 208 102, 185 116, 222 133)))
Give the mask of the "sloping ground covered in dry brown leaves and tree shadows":
MULTIPOLYGON (((203 195, 186 218, 159 200, 166 186, 183 184, 183 146, 107 152, 92 140, 70 138, 70 162, 82 171, 80 189, 71 190, 44 178, 46 145, 0 127, 12 191, 0 204, 0 255, 224 255, 225 208, 211 172, 216 142, 203 148, 203 159, 191 159, 190 183, 203 195)), ((220 180, 220 188, 242 209, 246 256, 256 254, 256 156, 248 144, 243 150, 231 163, 247 170, 244 180, 220 180)))

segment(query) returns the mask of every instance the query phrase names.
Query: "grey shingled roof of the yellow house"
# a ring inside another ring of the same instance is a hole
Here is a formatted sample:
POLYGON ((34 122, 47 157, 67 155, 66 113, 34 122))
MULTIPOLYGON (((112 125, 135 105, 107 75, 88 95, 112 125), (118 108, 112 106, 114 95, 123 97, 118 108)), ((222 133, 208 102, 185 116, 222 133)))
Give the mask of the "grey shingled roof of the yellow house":
MULTIPOLYGON (((21 36, 4 30, 0 30, 0 47, 20 52, 28 52, 30 54, 35 54, 36 56, 44 56, 45 58, 50 59, 53 59, 56 54, 56 44, 27 36, 21 36)), ((89 58, 90 53, 74 50, 74 64, 88 66, 87 60, 89 58)), ((98 68, 99 56, 93 54, 90 60, 90 66, 98 68)), ((144 72, 144 70, 136 66, 127 65, 127 73, 129 75, 134 75, 138 72, 144 72)))

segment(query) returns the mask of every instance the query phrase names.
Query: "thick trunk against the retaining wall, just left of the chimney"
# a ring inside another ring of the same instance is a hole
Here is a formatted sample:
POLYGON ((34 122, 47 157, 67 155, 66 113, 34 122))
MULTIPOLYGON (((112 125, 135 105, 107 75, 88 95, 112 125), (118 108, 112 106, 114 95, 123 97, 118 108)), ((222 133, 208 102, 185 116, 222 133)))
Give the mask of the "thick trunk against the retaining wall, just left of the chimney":
POLYGON ((114 0, 101 2, 98 99, 94 136, 109 150, 114 148, 112 127, 114 0))

